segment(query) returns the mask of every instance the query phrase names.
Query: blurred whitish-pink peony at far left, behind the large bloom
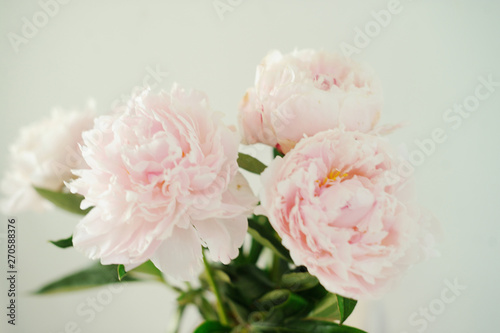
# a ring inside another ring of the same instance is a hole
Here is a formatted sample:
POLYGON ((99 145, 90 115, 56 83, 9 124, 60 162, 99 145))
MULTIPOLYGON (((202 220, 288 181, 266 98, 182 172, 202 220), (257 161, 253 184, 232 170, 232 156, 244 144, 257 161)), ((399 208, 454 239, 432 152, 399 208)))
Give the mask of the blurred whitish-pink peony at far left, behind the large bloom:
POLYGON ((9 147, 10 165, 1 184, 4 214, 53 208, 33 186, 61 191, 64 182, 74 177, 71 169, 87 166, 78 144, 82 132, 92 128, 93 120, 89 105, 84 112, 54 110, 50 118, 21 129, 9 147))

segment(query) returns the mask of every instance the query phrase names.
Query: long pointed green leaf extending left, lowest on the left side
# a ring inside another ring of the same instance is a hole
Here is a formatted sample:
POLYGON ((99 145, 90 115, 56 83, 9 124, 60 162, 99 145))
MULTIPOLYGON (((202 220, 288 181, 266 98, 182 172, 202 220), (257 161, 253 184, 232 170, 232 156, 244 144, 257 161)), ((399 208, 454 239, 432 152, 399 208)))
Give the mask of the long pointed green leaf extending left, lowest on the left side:
MULTIPOLYGON (((117 265, 101 265, 100 263, 97 263, 89 268, 49 283, 37 290, 35 293, 49 294, 74 291, 120 282, 116 274, 117 270, 117 265)), ((137 281, 137 279, 125 276, 122 281, 137 281)))

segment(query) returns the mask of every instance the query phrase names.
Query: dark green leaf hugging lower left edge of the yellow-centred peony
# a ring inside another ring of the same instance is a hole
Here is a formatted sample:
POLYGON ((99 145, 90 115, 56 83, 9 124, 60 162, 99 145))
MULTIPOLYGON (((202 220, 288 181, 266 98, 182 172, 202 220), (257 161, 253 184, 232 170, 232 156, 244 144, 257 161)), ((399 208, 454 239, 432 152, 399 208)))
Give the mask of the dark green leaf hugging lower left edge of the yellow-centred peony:
POLYGON ((267 217, 263 215, 254 216, 248 219, 248 233, 252 237, 264 245, 265 247, 271 249, 274 253, 280 256, 282 259, 293 263, 292 258, 288 250, 281 244, 281 239, 279 238, 276 231, 269 224, 267 217))

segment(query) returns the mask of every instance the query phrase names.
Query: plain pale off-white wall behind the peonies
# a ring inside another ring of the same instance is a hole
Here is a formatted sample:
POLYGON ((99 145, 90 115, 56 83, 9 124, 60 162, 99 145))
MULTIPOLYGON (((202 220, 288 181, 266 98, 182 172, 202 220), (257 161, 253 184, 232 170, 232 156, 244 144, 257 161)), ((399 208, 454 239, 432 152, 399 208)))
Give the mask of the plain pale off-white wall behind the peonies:
MULTIPOLYGON (((72 0, 60 5, 16 53, 7 34, 22 36, 23 17, 31 21, 41 7, 33 0, 1 0, 0 171, 7 167, 7 147, 20 127, 45 117, 54 106, 82 108, 89 97, 104 114, 113 100, 142 84, 148 68, 157 66, 169 72, 161 87, 169 89, 176 81, 203 90, 212 108, 226 113, 226 123, 235 124, 238 102, 269 50, 338 51, 342 42, 355 45, 356 27, 369 26, 371 11, 387 8, 389 1, 232 3, 232 11, 221 19, 212 0, 72 0)), ((401 0, 400 6, 353 58, 367 62, 382 80, 380 123, 407 123, 391 135, 394 144, 406 144, 412 152, 414 140, 429 138, 436 128, 446 132, 446 141, 415 171, 421 202, 444 230, 442 256, 410 270, 380 301, 360 302, 348 323, 371 333, 498 331, 500 87, 457 129, 443 114, 474 93, 479 76, 500 81, 500 5, 401 0), (455 279, 466 288, 441 308, 445 281, 455 279), (430 312, 433 317, 425 325, 412 326, 412 314, 423 318, 418 312, 428 307, 436 315, 430 312)), ((127 285, 90 322, 75 310, 100 289, 31 295, 88 261, 73 249, 47 243, 71 234, 76 216, 54 211, 17 218, 21 295, 18 325, 9 332, 59 333, 70 321, 81 332, 164 332, 175 301, 159 284, 127 285)), ((2 220, 4 228, 6 217, 2 220)), ((4 268, 4 255, 0 258, 4 268)), ((0 280, 1 325, 7 327, 3 274, 0 280)), ((187 332, 195 325, 189 321, 187 332)))

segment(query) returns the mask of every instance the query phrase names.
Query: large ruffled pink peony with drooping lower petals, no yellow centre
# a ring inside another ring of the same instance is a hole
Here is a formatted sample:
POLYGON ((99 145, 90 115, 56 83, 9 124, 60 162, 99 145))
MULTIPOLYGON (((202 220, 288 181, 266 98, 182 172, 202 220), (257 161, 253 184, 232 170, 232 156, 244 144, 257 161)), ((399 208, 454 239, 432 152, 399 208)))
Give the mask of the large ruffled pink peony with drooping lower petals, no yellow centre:
POLYGON ((75 171, 70 189, 95 208, 76 227, 78 250, 127 269, 151 259, 184 280, 202 245, 225 264, 238 255, 257 200, 238 171, 237 135, 204 94, 146 90, 83 138, 90 169, 75 171))

